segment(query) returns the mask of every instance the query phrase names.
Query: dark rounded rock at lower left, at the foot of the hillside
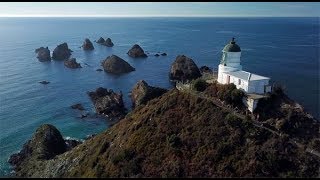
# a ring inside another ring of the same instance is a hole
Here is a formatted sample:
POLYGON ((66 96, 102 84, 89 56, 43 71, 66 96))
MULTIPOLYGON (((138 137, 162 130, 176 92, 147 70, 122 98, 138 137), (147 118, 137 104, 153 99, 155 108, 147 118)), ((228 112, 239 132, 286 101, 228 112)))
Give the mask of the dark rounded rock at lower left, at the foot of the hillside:
POLYGON ((29 158, 51 159, 66 151, 66 143, 60 132, 50 124, 41 125, 22 150, 10 156, 9 163, 18 166, 29 158))

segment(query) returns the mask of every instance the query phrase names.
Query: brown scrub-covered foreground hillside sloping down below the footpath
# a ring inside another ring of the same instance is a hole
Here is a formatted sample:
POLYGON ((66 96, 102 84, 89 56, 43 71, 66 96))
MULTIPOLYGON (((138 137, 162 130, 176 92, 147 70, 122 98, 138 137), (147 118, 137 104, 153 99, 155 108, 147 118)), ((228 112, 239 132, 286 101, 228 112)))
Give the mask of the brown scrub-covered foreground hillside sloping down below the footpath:
POLYGON ((207 99, 170 90, 105 132, 50 160, 33 177, 317 177, 320 160, 207 99))

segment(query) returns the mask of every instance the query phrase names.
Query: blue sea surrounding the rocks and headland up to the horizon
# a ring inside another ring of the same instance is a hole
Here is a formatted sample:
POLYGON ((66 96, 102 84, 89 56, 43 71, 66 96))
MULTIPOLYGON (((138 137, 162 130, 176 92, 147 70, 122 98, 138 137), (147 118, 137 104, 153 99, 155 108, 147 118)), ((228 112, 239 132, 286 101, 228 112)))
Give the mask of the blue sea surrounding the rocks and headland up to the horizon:
POLYGON ((319 18, 0 18, 0 176, 7 163, 44 123, 55 125, 64 137, 83 139, 109 127, 101 118, 80 119, 72 104, 82 103, 94 113, 87 91, 97 87, 122 91, 130 109, 129 93, 144 79, 152 86, 171 88, 168 73, 177 55, 192 58, 200 67, 217 69, 222 48, 236 38, 246 71, 271 77, 286 87, 291 98, 319 119, 319 18), (110 37, 108 48, 92 42, 110 37), (51 50, 67 42, 81 69, 63 62, 39 62, 34 50, 51 50), (150 53, 133 59, 126 53, 134 44, 150 53), (152 54, 166 52, 168 56, 152 54), (100 62, 115 54, 136 71, 110 75, 96 71, 100 62), (87 63, 88 65, 85 65, 87 63), (43 85, 39 81, 47 80, 43 85))

